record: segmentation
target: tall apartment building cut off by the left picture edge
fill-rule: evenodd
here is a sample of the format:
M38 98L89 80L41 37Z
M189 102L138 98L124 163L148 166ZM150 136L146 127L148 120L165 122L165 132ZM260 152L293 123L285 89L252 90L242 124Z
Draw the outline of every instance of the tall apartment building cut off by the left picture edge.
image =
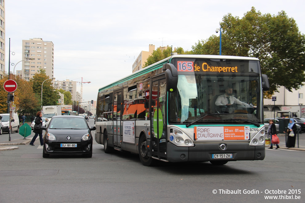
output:
M0 79L5 72L5 26L4 0L0 0Z

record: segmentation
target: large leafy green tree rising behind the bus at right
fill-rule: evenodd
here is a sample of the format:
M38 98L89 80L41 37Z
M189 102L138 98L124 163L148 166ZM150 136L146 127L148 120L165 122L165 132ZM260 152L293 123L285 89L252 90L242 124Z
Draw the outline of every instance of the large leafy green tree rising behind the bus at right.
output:
M222 27L222 55L260 59L262 74L267 74L273 94L279 86L291 91L305 82L305 37L293 18L284 11L278 15L261 14L252 7L239 19L225 15ZM193 54L217 54L219 37L213 35L192 46Z

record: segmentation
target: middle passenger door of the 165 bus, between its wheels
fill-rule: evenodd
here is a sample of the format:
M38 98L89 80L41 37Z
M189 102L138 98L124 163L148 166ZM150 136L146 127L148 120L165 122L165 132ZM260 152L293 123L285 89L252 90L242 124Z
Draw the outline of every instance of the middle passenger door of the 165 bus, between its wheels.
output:
M121 134L122 134L122 90L114 93L114 102L113 102L113 141L114 145L121 146Z

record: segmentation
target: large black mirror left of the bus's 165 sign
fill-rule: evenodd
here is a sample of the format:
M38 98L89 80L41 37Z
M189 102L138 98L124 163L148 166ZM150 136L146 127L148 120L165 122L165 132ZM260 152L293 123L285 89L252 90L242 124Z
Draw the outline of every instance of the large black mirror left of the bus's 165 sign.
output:
M163 65L163 70L165 70L167 91L169 92L175 91L177 89L177 83L178 83L177 68L171 63L166 63Z

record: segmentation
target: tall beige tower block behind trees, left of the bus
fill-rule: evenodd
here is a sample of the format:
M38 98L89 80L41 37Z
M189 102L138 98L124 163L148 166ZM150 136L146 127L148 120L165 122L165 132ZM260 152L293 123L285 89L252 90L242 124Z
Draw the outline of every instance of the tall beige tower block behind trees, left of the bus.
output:
M49 78L54 77L54 44L51 41L43 41L42 38L22 40L22 60L34 58L22 62L22 78L29 81L39 72L46 71Z

